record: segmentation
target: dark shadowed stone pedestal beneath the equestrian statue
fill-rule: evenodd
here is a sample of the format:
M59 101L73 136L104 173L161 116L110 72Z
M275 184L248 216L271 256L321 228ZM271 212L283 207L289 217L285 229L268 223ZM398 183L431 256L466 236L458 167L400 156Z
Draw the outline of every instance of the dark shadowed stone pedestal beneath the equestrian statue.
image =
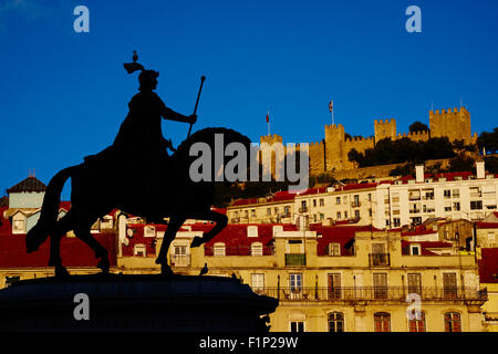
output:
M89 320L81 319L86 305ZM264 315L277 305L276 299L257 295L231 278L45 278L0 291L0 331L267 332Z

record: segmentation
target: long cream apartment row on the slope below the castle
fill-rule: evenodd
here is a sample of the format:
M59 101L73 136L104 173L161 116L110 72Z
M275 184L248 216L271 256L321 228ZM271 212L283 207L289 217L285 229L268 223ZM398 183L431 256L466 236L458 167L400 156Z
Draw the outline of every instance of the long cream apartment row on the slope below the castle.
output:
M483 220L497 210L498 200L498 175L487 174L484 164L476 163L476 174L425 174L424 166L418 165L415 176L394 180L338 184L295 195L281 192L287 198L286 210L293 215L287 219L270 217L274 208L271 198L235 201L228 214L230 221L239 222L295 222L305 216L310 223L373 225L378 229L419 225L434 218Z

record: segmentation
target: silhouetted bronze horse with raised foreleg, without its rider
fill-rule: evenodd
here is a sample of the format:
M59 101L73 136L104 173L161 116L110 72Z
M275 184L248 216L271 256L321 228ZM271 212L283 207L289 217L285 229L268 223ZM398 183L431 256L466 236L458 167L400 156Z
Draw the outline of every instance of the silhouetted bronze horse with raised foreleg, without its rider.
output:
M196 237L190 247L198 247L211 240L227 225L228 218L211 210L214 194L218 183L215 181L215 166L211 163L210 179L193 181L189 176L191 163L197 156L190 156L190 146L196 143L205 143L209 146L211 159L215 152L215 135L222 134L225 145L240 143L246 152L250 152L250 140L240 133L227 128L205 128L196 132L169 157L167 167L160 170L157 183L151 184L153 179L145 180L142 176L146 174L146 167L139 162L137 171L120 167L120 162L108 162L105 157L101 159L87 159L83 164L71 166L59 171L49 183L42 204L41 215L38 223L28 232L25 244L27 251L33 252L39 249L50 236L49 266L55 268L56 277L69 275L62 264L60 256L61 238L70 230L84 241L95 252L98 260L97 267L103 272L108 272L110 261L107 250L102 247L91 235L91 227L100 218L117 208L126 214L144 217L148 221L166 223L169 218L167 230L164 235L163 244L156 263L162 266L163 274L173 273L167 264L167 252L169 244L175 239L176 232L186 219L198 219L214 221L215 227L205 232L203 237ZM249 170L249 157L245 159L248 165L242 166ZM125 158L125 157L123 157ZM226 165L224 155L224 165ZM123 163L123 160L122 160ZM59 205L62 188L71 177L71 209L65 216L58 220ZM231 184L224 178L222 184ZM154 188L160 202L147 200L145 188Z

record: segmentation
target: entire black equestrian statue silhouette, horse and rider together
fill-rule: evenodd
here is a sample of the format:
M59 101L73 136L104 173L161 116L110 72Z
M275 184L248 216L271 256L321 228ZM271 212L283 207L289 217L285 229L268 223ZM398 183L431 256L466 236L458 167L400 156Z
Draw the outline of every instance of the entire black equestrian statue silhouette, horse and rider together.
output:
M240 143L249 152L249 138L232 129L211 127L191 136L189 131L187 139L174 149L172 142L163 137L160 119L189 123L191 128L197 121L195 112L205 77L201 77L194 114L185 116L166 107L154 92L159 73L145 70L136 60L134 52L133 62L125 63L124 67L129 74L141 71L139 93L128 103L129 113L114 144L96 155L85 157L84 163L55 174L46 186L40 219L27 235L28 252L37 251L50 236L49 266L55 268L56 277L69 275L62 264L60 247L61 238L71 230L95 252L97 267L108 272L107 250L93 238L91 227L115 208L156 223L166 223L165 218L169 218L156 259L163 274L173 273L167 264L167 252L186 219L216 223L203 237L196 237L190 247L209 241L227 225L225 215L211 210L216 186L219 184L215 183L215 166L210 164L210 178L193 181L189 169L198 157L190 156L190 146L203 143L209 146L210 152L215 152L215 137L221 134L225 145ZM174 154L169 156L166 148L174 150ZM246 160L249 162L249 158ZM249 169L248 166L243 168ZM58 219L61 192L70 177L71 209ZM221 183L230 184L226 180Z

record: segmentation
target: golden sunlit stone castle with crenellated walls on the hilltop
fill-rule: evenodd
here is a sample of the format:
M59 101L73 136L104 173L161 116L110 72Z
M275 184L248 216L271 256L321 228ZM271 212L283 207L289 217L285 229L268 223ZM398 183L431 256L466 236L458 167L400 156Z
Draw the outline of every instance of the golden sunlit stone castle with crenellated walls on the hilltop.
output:
M464 139L465 144L475 144L477 133L470 133L470 113L465 108L449 108L429 111L429 131L414 133L397 133L396 121L375 119L374 136L372 137L345 137L344 126L341 124L325 125L325 138L321 142L309 144L310 175L320 175L326 171L346 170L355 168L349 160L347 153L356 149L363 153L383 138L392 140L407 137L412 140L428 140L433 137L448 137L450 142ZM260 143L267 143L270 147L276 143L282 144L282 137L272 134L260 137ZM299 144L297 144L299 149Z

